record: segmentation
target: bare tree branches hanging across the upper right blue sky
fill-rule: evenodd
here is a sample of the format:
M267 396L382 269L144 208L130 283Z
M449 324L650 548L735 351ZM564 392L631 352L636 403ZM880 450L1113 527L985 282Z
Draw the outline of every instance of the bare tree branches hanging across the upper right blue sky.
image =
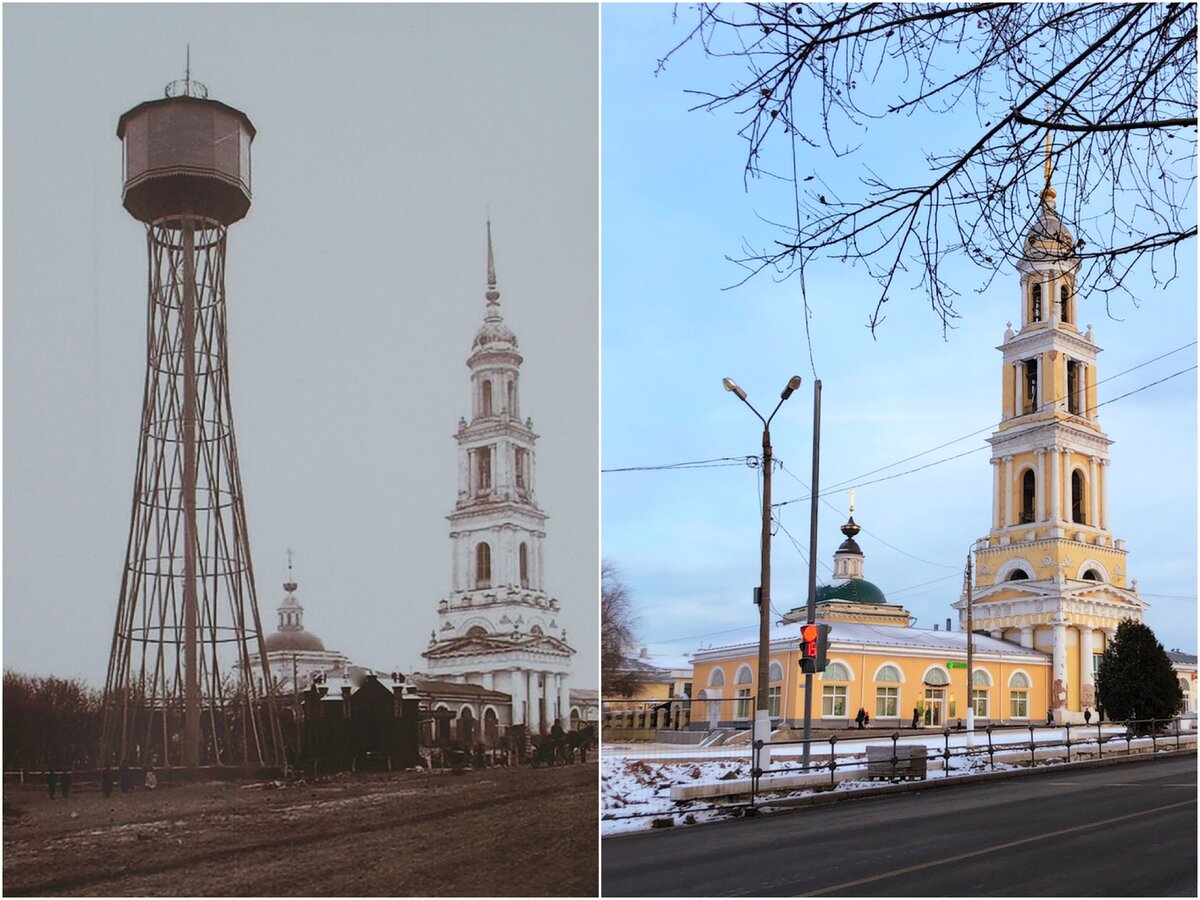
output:
M1019 256L1049 186L1048 133L1078 289L1108 302L1135 268L1157 286L1176 276L1177 248L1196 233L1194 4L695 8L660 70L695 41L743 62L727 90L692 91L696 108L731 109L748 144L744 176L778 176L794 193L796 220L775 223L778 241L734 260L746 278L798 275L803 292L815 259L860 262L880 286L872 334L905 287L925 294L944 332L960 313L942 264L971 259L982 289ZM904 184L864 166L852 197L818 174L868 145L872 121L916 113L974 118L977 139L923 146L928 172Z

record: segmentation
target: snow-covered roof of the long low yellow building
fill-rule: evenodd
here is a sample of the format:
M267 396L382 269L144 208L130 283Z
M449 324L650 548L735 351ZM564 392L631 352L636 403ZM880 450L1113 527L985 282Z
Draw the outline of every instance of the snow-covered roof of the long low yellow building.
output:
M847 648L847 644L862 646L864 648L892 648L913 650L935 650L938 653L962 653L967 652L966 631L935 631L924 628L900 628L898 625L872 625L865 622L830 622L829 644L830 650ZM776 649L796 647L800 640L798 624L776 625L770 632L770 643ZM998 641L988 635L974 635L974 652L995 656L1038 656L1050 659L1049 653L1036 650L1032 647L1021 647L1013 641ZM725 644L697 650L694 660L704 660L733 655L737 652L754 652L757 649L757 641L742 641L739 643Z

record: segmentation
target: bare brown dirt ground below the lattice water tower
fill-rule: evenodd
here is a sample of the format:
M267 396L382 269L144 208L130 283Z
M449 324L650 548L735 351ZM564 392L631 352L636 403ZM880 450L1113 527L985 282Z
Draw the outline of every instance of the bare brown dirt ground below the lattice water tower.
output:
M4 894L595 896L595 762L208 782L104 799L4 787Z

